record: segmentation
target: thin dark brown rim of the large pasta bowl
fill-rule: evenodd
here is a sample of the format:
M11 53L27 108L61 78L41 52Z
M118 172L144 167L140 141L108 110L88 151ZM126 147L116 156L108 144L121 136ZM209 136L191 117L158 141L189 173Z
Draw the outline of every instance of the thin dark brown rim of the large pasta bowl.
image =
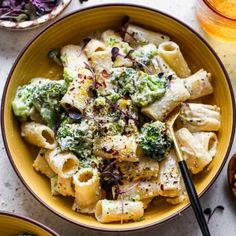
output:
M50 23L48 26L46 26L45 28L41 29L36 35L34 35L34 37L32 37L32 39L30 39L26 45L21 49L21 51L19 52L9 74L8 74L8 77L7 77L7 80L5 82L5 86L4 86L4 90L3 90L3 95L2 95L2 102L1 102L1 130L2 130L2 136L3 136L3 143L4 143L4 146L5 146L5 149L6 149L6 153L7 153L7 156L11 162L11 165L13 166L13 169L15 170L16 174L18 175L19 179L21 180L21 182L23 183L23 185L26 187L26 189L44 206L46 207L48 210L50 210L51 212L53 212L55 215L59 216L60 218L66 220L67 222L70 222L70 223L73 223L77 226L81 226L81 227L84 227L84 228L87 228L89 230L96 230L96 231L100 231L100 232L135 232L135 231L141 231L141 230L144 230L144 229L150 229L150 228L154 228L155 226L158 226L162 223L165 223L171 219L173 219L175 216L178 216L179 214L183 213L186 209L188 209L191 204L188 203L185 207L182 208L182 210L180 211L177 211L173 214L171 214L170 216L162 219L161 221L159 222L153 222L153 223L150 223L150 224L147 224L147 225L143 225L143 226L136 226L136 227L132 227L132 228L124 228L124 229L119 229L118 227L115 228L115 229L109 229L109 228L105 228L105 227L97 227L97 226L91 226L91 225L88 225L88 224L84 224L84 223L81 223L81 222L78 222L78 221L75 221L75 220L72 220L70 219L69 217L65 216L63 213L60 213L56 210L54 210L51 206L49 206L47 203L45 203L42 199L40 199L40 197L33 192L33 190L31 189L31 187L25 182L24 178L21 176L20 172L18 171L14 161L13 161L13 158L12 158L12 155L11 155L11 152L10 152L10 149L8 147L8 144L7 144L7 139L6 139L6 133L5 133L5 125L4 125L4 107L5 107L5 98L6 98L6 93L8 91L8 85L9 85L9 82L10 82L10 79L11 79L11 76L15 70L15 67L17 66L19 60L21 59L21 57L23 56L24 52L29 48L29 46L38 38L40 37L40 35L42 33L44 33L44 31L46 31L47 29L49 29L52 25L54 24L57 24L58 22L68 18L68 17L71 17L75 14L79 14L80 12L84 12L84 11L88 11L88 10L92 10L92 9L96 9L96 8L104 8L104 7L130 7L130 8L138 8L138 9L144 9L144 10L148 10L148 11L151 11L153 13L158 13L158 14L161 14L161 15L164 15L168 18L171 18L172 20L176 21L177 23L181 24L182 26L184 26L185 28L187 28L189 31L191 31L193 34L195 34L196 37L198 37L198 39L200 39L206 46L207 48L210 50L210 52L214 55L214 57L216 58L217 62L219 63L224 75L225 75L225 78L226 78L226 81L227 81L227 84L229 86L229 91L230 91L230 95L231 95L231 101L232 101L232 111L233 111L233 116L235 117L236 116L236 111L235 111L235 97L234 97L234 92L233 92L233 87L232 87L232 84L231 84L231 81L230 81L230 78L229 78L229 75L222 63L222 61L220 60L219 56L216 54L216 52L214 51L214 49L210 46L210 44L199 34L197 33L192 27L190 27L189 25L187 25L186 23L182 22L181 20L177 19L176 17L168 14L168 13L165 13L165 12L162 12L161 10L157 10L157 9L154 9L152 7L147 7L147 6L144 6L144 5L140 5L140 4L132 4L132 3L105 3L105 4L99 4L99 5L94 5L94 6L89 6L89 7L85 7L83 9L78 9L78 10L75 10L75 11L72 11L71 13L63 16L62 18L59 18L58 20ZM231 148L232 148L232 145L233 145L233 140L234 140L234 134L235 134L235 119L233 119L233 123L232 123L232 131L231 131L231 136L230 136L230 141L229 141L229 144L228 144L228 147L227 147L227 152L225 154L225 157L224 157L224 160L223 162L221 163L217 173L215 174L215 176L212 178L212 180L208 183L208 185L205 187L205 189L203 189L203 191L198 194L198 197L201 198L206 192L207 190L212 186L212 184L215 182L215 180L218 178L219 174L221 173L227 159L228 159L228 156L230 154L230 151L231 151Z

